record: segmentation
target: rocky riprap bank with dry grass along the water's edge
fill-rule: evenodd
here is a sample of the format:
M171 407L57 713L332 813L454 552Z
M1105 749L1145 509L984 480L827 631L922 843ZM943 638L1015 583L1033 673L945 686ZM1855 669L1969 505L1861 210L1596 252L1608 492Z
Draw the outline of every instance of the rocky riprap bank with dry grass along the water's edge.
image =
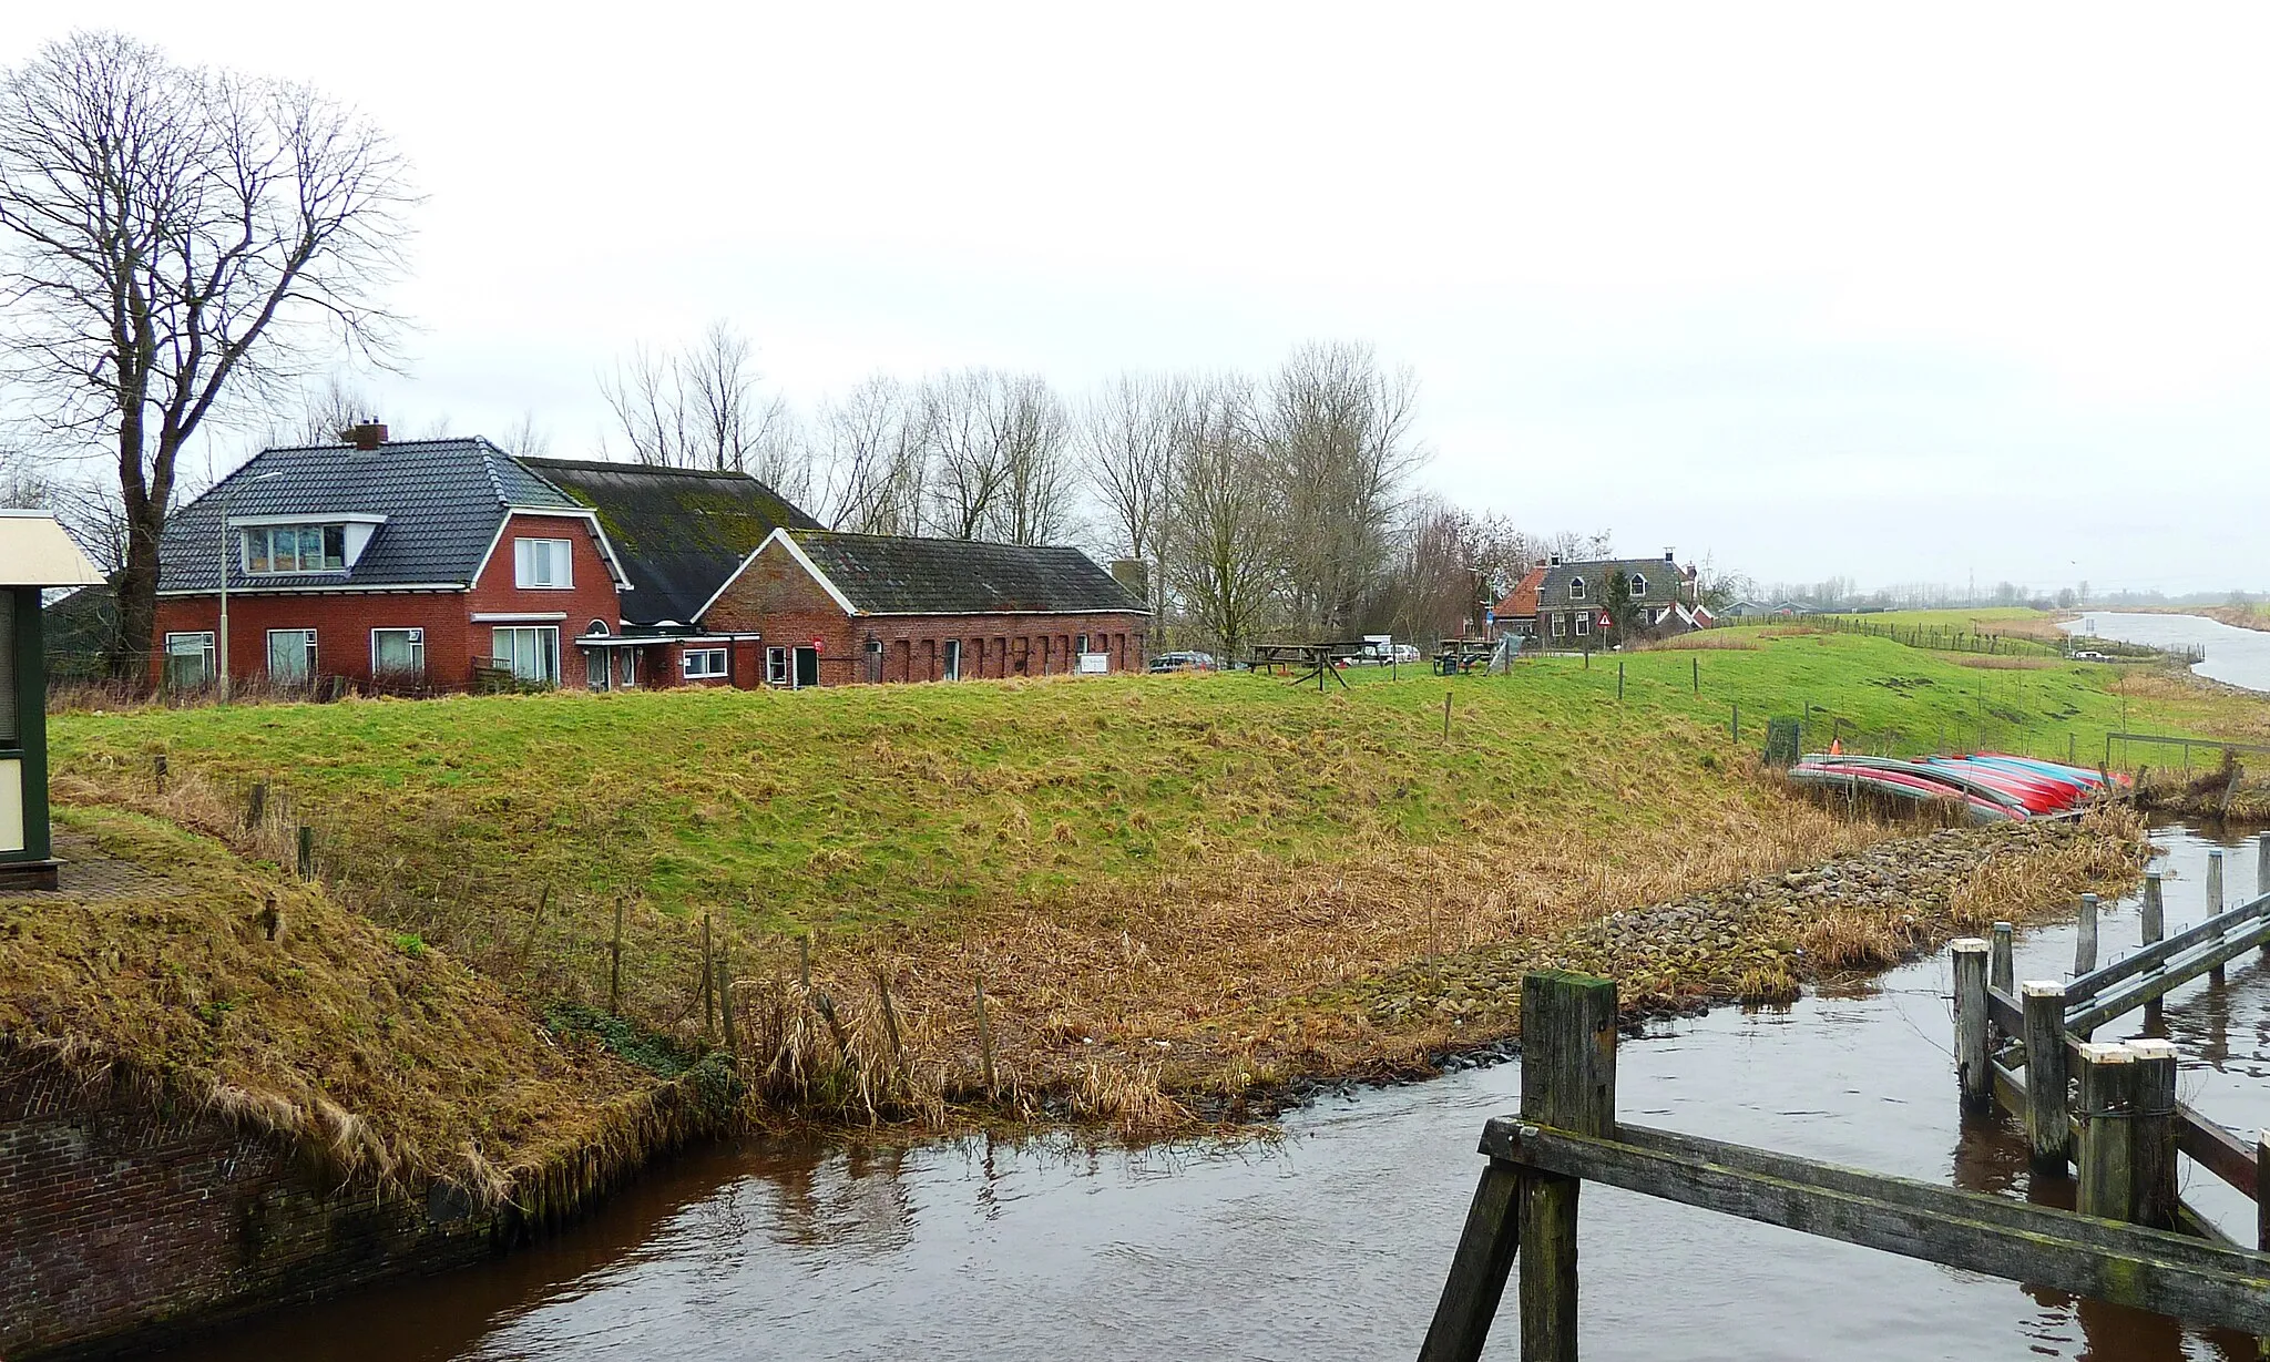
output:
M1800 983L1882 969L1995 919L2068 913L2082 890L2132 883L2147 851L2127 815L1895 838L1544 942L1410 965L1364 985L1362 1001L1382 1026L1435 1019L1471 1037L1444 1060L1494 1049L1519 1024L1521 976L1539 967L1616 978L1628 1019L1789 1001Z

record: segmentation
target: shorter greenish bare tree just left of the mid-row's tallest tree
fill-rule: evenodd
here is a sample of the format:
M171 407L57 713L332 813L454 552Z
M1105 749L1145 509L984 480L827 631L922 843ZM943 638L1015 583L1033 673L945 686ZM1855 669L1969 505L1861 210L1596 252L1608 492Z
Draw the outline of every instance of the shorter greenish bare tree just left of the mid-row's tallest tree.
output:
M1162 558L1174 602L1228 656L1278 613L1283 529L1251 386L1235 377L1194 386L1176 434Z

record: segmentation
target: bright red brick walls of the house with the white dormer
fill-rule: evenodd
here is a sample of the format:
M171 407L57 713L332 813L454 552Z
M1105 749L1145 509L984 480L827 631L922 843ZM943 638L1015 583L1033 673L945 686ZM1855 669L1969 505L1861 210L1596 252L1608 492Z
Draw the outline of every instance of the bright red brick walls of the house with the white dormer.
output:
M572 545L568 590L533 590L513 583L515 538L565 538ZM424 629L427 681L438 690L461 690L472 683L474 658L495 656L499 622L474 622L474 615L547 615L529 624L556 624L561 631L561 683L583 686L583 661L574 636L592 620L608 629L622 627L622 604L599 556L590 522L572 515L515 513L497 540L495 554L481 568L472 590L454 592L336 592L336 595L261 595L229 592L229 676L259 683L268 676L268 631L313 629L316 674L370 681L372 629ZM558 615L556 620L549 615ZM220 597L170 597L157 606L157 638L163 654L166 633L218 631ZM152 658L152 683L163 681L163 656Z

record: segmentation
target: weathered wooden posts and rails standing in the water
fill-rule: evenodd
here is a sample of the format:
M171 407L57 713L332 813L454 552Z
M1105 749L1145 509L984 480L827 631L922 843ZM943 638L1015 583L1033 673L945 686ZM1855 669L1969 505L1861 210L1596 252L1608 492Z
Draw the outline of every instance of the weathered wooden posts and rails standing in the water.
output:
M2245 908L2256 910L2245 922L2263 919L2259 903ZM2209 938L2195 938L2193 947L2161 956L2159 972L2141 965L2116 974L2109 983L2093 985L2082 1003L2084 1015L2120 999L2129 1008L2150 1001L2141 983L2113 992L2120 981L2152 978L2177 960L2184 969L2204 972L2200 960L2222 947L2229 953L2247 949L2240 942L2252 942L2256 933L2231 922L2236 913L2218 915L2218 949L2200 949ZM1961 1096L2025 1103L2013 1110L2036 1112L2038 1119L2027 1121L2036 1155L2063 1162L2077 1151L2082 1196L2093 1214L1621 1124L1616 985L1582 974L1537 972L1521 985L1521 1115L1491 1119L1482 1128L1480 1153L1487 1165L1419 1351L1421 1362L1471 1362L1482 1355L1516 1264L1523 1362L1573 1362L1582 1183L2156 1310L2202 1326L2270 1335L2270 1253L2150 1224L2186 1221L2175 1199L2177 1151L2256 1196L2261 1205L2261 1144L2247 1149L2236 1135L2175 1101L2175 1046L2068 1044L2068 1015L2075 1006L2070 990L2025 985L2023 1003L2009 997L2009 958L2004 953L1993 960L1998 944L2007 940L2009 933L1998 931L1995 944L1957 944ZM2027 1044L2029 1053L2045 1056L2048 1062L2018 1069L2002 1065L1993 1049L1995 1028L2002 1031L2002 1044ZM2082 1076L2079 1119L2068 1110L2068 1058ZM2038 1101L2029 1101L2032 1096ZM2204 1221L2188 1228L2204 1228ZM2263 1233L2270 1235L2270 1221ZM2259 1246L2270 1246L2270 1237L2259 1239Z

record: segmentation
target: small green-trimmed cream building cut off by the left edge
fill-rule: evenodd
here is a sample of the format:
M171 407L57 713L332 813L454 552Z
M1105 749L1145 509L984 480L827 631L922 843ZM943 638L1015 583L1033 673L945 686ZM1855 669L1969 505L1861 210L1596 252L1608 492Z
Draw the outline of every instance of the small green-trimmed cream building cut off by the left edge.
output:
M102 572L48 511L0 511L0 890L52 890L48 835L48 590L102 586Z

